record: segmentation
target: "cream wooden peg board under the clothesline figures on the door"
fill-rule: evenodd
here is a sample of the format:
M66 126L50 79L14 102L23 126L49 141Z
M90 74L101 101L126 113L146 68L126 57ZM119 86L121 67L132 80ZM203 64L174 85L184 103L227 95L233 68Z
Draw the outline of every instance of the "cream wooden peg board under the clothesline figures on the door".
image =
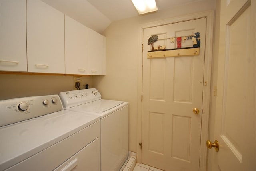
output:
M194 56L199 55L199 51L200 47L148 51L148 58Z

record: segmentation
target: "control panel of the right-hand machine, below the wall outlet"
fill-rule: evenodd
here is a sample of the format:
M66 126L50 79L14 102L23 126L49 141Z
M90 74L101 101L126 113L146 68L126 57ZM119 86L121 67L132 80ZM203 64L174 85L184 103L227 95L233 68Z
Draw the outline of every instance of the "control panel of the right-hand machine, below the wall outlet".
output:
M71 108L101 99L101 95L96 88L61 92L59 95L64 108Z

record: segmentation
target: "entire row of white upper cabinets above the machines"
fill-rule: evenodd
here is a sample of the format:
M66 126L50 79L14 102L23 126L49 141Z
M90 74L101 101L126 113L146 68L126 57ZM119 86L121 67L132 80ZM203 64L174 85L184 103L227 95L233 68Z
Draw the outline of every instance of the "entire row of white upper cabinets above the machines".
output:
M106 75L106 38L41 0L0 0L0 28L0 71Z

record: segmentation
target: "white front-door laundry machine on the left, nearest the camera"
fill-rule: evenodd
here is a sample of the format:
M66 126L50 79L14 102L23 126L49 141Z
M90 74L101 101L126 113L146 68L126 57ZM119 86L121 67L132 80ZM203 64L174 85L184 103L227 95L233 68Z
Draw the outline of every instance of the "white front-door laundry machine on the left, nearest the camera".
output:
M100 171L100 117L58 95L0 101L0 171Z

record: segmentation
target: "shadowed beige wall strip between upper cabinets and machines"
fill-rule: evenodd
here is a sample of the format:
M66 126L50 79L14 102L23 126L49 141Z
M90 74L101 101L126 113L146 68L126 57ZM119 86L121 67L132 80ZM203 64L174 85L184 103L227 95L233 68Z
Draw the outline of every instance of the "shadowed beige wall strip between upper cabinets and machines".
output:
M92 88L92 77L80 77L81 87L86 84ZM64 75L40 74L0 74L0 100L59 94L63 91L74 90L74 77Z

